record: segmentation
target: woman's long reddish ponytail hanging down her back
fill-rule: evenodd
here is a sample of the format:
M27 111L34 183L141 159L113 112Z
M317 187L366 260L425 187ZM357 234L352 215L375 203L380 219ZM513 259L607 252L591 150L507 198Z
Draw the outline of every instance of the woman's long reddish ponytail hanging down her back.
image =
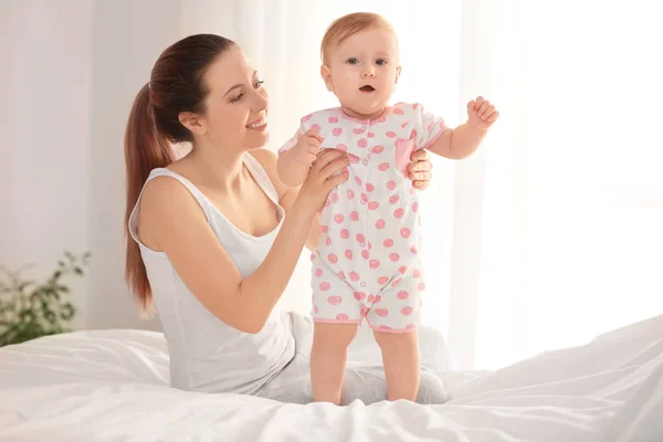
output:
M144 312L151 311L152 294L145 264L140 257L140 249L128 232L129 217L138 202L138 197L150 171L158 167L166 167L175 160L170 145L155 122L149 94L149 84L143 86L138 92L125 134L127 168L127 207L125 212L127 256L125 277Z

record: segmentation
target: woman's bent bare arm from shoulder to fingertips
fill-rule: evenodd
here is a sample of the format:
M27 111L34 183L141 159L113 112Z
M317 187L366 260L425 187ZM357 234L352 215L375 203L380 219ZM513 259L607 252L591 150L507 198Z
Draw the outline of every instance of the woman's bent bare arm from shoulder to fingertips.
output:
M348 162L340 151L318 157L267 256L245 278L198 202L179 182L162 177L146 186L140 206L140 217L146 217L143 225L150 227L159 249L206 308L231 327L257 333L292 276L315 213L334 186L347 179L333 175Z

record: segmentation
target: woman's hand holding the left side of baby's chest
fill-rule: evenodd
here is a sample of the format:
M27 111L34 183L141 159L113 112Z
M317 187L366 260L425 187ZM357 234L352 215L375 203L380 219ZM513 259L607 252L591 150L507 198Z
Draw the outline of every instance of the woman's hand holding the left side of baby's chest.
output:
M327 201L332 189L348 179L349 164L347 154L341 150L325 149L319 152L299 189L293 209L313 218Z

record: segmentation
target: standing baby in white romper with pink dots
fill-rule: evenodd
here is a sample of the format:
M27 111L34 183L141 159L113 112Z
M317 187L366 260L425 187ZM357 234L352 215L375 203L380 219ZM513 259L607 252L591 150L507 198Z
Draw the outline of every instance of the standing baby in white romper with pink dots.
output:
M347 348L366 319L382 351L388 399L413 401L425 283L419 202L407 166L414 149L470 156L498 113L478 97L467 104L467 122L452 129L420 104L389 106L401 67L397 36L380 15L336 20L320 52L320 74L340 106L302 118L278 150L278 173L288 186L302 185L322 149L344 150L350 160L349 179L320 211L312 255L314 400L340 403Z

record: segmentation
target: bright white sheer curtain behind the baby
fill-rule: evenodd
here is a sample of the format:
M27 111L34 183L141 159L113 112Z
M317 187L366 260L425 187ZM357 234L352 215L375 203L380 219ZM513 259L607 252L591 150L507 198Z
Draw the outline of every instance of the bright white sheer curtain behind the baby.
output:
M203 4L204 3L204 4ZM203 7L204 6L204 7ZM352 11L396 27L394 99L460 124L502 112L481 150L434 158L423 194L424 323L461 368L496 368L663 313L663 71L653 2L186 1L182 33L235 39L272 95L272 148L335 105L325 28ZM303 259L281 306L308 311Z

